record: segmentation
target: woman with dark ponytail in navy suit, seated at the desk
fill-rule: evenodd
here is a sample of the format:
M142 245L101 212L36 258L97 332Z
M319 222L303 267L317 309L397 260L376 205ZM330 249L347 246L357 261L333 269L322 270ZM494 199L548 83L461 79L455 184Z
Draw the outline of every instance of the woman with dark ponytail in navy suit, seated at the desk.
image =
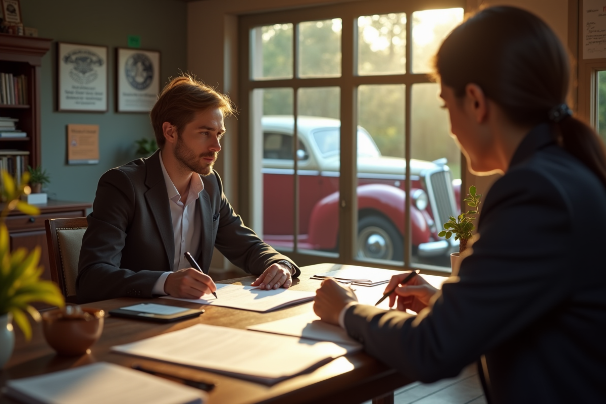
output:
M417 316L358 305L330 279L316 314L423 382L482 357L494 403L606 402L606 153L565 104L564 47L531 13L486 8L445 39L436 71L470 170L504 173L473 253L441 291L398 288Z

